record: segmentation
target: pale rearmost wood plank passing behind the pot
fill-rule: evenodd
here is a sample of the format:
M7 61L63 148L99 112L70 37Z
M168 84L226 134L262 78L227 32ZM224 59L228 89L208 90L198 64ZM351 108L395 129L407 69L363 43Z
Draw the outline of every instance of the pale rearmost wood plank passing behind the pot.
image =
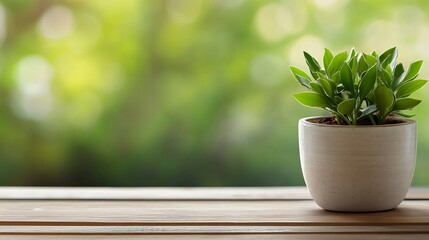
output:
M39 200L306 200L306 187L108 188L0 187L1 199ZM407 199L429 200L429 188L411 188Z

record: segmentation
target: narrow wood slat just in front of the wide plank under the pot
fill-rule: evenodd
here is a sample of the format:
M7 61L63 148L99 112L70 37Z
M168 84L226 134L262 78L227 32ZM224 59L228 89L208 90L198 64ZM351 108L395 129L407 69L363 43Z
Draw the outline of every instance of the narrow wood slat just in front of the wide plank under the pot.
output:
M332 234L332 233L426 233L428 225L399 226L0 226L0 235L40 234Z

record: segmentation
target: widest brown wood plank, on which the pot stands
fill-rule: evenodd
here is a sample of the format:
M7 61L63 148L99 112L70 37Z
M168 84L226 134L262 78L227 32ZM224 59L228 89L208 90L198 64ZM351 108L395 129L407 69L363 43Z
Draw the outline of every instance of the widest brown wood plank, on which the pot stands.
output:
M336 213L313 201L0 201L0 225L381 226L429 223L429 201Z

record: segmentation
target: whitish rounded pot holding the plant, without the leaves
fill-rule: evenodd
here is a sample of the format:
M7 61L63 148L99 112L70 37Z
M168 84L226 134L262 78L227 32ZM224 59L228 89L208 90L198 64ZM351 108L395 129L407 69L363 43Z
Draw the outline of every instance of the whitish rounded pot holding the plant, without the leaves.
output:
M397 207L413 178L416 122L377 126L299 121L305 183L317 205L344 212Z

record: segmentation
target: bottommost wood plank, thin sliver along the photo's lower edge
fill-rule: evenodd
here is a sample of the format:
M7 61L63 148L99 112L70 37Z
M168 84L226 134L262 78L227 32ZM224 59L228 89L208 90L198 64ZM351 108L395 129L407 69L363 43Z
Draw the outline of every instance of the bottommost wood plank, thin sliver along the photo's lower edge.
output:
M427 240L428 234L264 234L264 235L8 235L4 240Z

